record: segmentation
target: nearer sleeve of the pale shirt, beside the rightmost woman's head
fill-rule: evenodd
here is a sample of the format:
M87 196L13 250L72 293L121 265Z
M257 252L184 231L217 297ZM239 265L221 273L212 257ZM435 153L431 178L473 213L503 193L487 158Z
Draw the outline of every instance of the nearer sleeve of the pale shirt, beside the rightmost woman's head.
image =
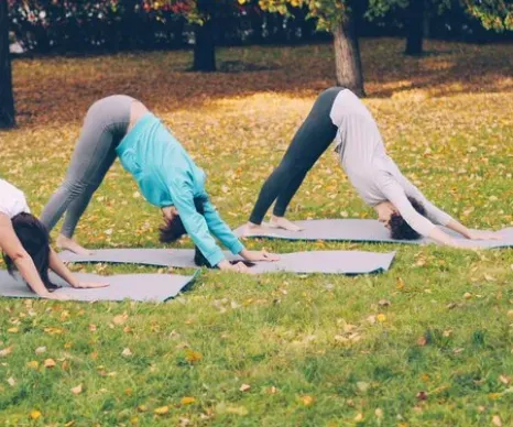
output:
M406 223L417 233L428 237L436 228L432 221L415 210L403 187L393 178L392 175L382 173L378 182L378 186L384 197L395 206Z

